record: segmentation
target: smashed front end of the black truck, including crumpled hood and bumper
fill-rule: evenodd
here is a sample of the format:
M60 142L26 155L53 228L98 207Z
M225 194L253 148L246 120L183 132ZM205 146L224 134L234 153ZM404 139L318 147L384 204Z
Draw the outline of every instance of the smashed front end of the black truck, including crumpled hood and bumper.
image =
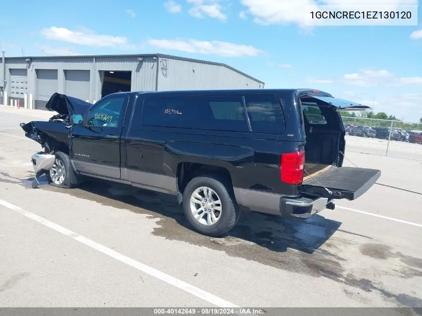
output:
M70 117L75 113L86 112L91 103L73 98L64 94L54 93L48 100L45 108L55 111L48 121L31 121L20 123L19 126L25 132L25 136L41 145L42 151L32 155L31 162L35 171L32 188L39 185L38 177L49 172L55 166L56 157L54 152L61 151L69 154L69 140L72 122ZM55 170L59 172L60 170Z

